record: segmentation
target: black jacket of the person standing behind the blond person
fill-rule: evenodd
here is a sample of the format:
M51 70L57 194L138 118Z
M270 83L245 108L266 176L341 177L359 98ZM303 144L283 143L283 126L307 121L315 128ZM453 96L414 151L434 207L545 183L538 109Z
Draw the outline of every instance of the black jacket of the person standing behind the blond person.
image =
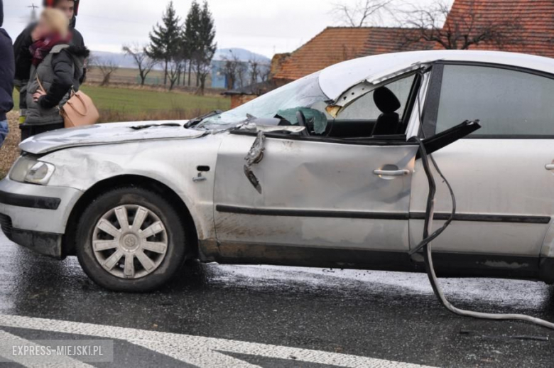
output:
M75 24L72 22L72 24ZM21 87L21 83L29 80L29 73L31 72L31 65L33 57L29 48L33 44L33 39L31 38L31 32L35 29L36 23L29 25L27 28L21 32L21 34L16 38L16 42L13 43L13 51L16 57L16 81L18 82L18 87ZM77 47L85 47L85 41L82 38L82 35L75 28L72 28L71 32L73 33L72 45ZM85 79L85 72L83 72L82 80ZM82 80L80 82L82 82Z

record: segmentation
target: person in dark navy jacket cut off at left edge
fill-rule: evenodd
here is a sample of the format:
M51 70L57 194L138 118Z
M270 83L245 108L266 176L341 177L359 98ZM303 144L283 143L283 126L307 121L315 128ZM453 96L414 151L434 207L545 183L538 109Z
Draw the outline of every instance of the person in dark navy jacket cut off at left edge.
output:
M4 4L0 0L0 147L9 132L6 112L13 109L13 73L16 68L13 62L11 38L4 28L1 28L2 24L4 24Z

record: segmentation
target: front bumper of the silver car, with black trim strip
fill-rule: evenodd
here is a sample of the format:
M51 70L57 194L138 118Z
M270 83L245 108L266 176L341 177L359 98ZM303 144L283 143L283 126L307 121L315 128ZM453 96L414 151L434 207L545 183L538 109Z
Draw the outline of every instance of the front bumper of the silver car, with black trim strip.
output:
M16 244L46 256L63 258L62 237L82 191L0 181L0 224Z

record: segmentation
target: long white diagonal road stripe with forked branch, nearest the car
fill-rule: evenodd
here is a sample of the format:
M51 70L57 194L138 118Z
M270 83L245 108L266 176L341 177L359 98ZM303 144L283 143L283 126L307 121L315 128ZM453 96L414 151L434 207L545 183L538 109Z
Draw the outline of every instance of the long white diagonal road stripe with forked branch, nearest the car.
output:
M121 328L107 325L94 325L92 323L22 317L18 315L0 315L0 326L126 340L135 345L140 345L161 354L179 359L180 361L205 368L256 367L256 365L228 357L219 352L233 352L245 355L257 355L260 357L288 359L295 362L328 364L337 367L423 367L418 364L393 362L384 359L359 357L356 355L333 352L298 349L295 347L225 340L215 337L180 335L170 332L137 330L134 328ZM114 354L116 353L117 352L114 352Z

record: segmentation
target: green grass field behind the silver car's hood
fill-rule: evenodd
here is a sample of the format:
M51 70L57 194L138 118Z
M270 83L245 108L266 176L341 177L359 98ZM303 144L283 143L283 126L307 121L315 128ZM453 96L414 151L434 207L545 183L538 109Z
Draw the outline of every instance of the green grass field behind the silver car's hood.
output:
M100 122L190 119L212 110L228 110L229 99L217 95L197 96L183 92L165 92L84 85L100 112ZM19 95L13 94L18 107Z

